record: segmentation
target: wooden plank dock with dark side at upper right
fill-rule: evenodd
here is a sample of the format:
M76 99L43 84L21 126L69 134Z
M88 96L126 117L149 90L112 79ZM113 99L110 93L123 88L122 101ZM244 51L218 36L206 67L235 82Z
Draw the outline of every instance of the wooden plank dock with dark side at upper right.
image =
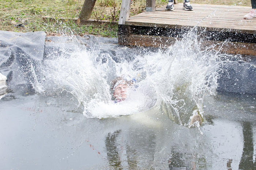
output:
M222 51L256 55L256 18L243 19L251 7L191 4L194 10L185 11L182 5L174 4L174 11L164 6L129 17L118 25L118 43L166 48L193 29L206 46L218 48L225 41Z

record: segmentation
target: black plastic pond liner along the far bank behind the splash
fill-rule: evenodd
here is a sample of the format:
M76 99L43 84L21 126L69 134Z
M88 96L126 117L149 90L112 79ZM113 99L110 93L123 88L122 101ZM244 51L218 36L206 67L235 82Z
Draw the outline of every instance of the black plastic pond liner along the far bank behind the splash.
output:
M117 45L116 38L100 38L93 35L78 36L78 41L88 49L101 47L100 53L109 54L114 61L132 61L140 48L128 48ZM31 74L33 67L40 81L40 65L46 57L62 54L63 42L70 41L69 36L46 37L45 32L9 32L0 31L0 72L7 77L9 90L27 89L33 91ZM72 51L72 46L64 44L64 48ZM113 50L115 49L115 50ZM119 50L116 50L119 49ZM148 49L154 50L154 49ZM117 54L117 53L122 54ZM243 56L244 61L224 62L219 73L218 91L232 93L256 93L256 57ZM104 59L102 59L104 62Z

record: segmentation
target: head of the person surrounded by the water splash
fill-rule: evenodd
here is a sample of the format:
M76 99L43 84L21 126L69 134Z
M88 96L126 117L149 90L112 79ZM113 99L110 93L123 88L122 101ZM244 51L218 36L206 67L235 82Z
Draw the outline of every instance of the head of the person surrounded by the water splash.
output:
M129 74L123 74L111 82L110 90L113 94L114 103L124 101L127 98L127 90L135 83L135 78Z

